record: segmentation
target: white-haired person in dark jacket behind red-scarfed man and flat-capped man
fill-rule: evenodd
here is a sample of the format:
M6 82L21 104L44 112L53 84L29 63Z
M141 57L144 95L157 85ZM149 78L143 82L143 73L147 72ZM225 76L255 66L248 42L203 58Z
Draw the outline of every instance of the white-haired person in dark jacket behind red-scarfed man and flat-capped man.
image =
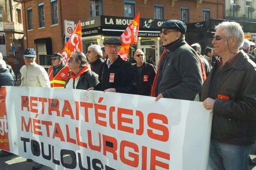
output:
M90 61L91 70L99 74L99 67L102 65L104 60L102 59L102 50L99 45L90 45L86 53L87 58Z

